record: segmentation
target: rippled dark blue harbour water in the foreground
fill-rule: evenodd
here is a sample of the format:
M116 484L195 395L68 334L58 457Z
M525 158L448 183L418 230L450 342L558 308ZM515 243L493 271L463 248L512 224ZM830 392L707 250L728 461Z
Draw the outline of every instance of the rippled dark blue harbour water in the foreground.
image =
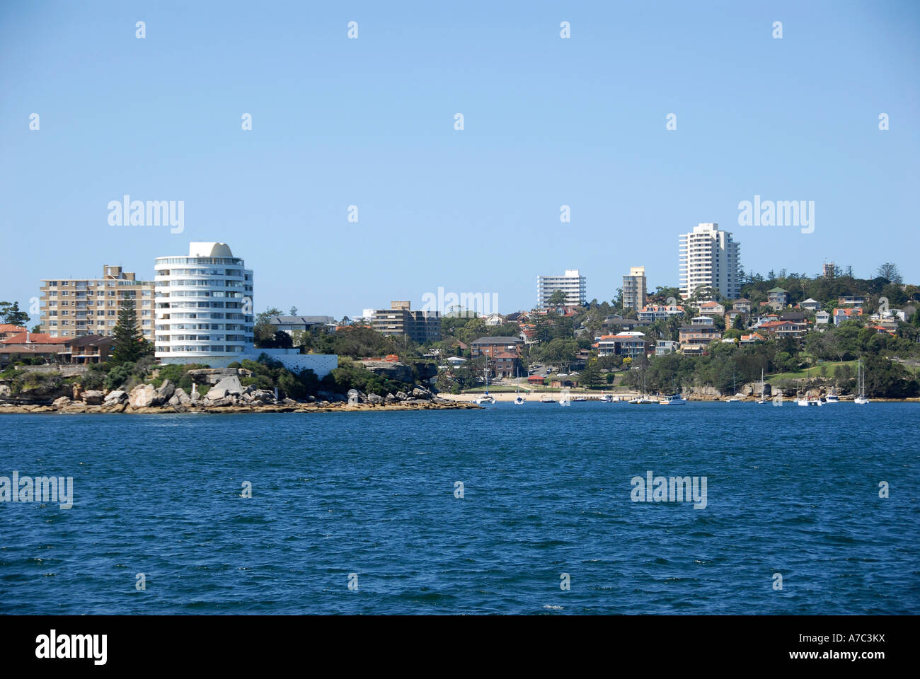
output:
M75 499L0 503L0 613L917 614L918 416L4 415L0 476ZM707 507L631 501L648 470L707 477Z

